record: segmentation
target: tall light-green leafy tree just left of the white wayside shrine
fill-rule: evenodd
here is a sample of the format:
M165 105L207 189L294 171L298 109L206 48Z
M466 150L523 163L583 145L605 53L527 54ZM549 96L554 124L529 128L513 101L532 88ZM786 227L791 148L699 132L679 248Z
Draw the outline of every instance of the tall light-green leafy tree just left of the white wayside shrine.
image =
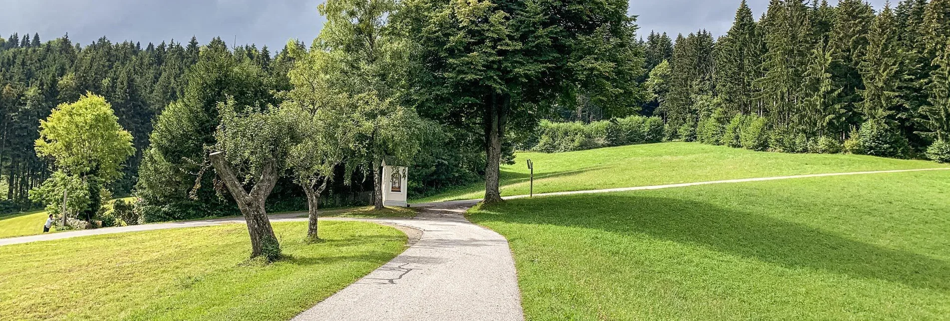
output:
M317 7L327 24L314 40L313 53L327 66L321 71L330 93L350 102L361 130L357 160L370 169L373 204L383 208L381 163L386 157L409 162L418 151L421 130L415 110L402 103L409 66L409 44L390 31L393 0L331 0ZM306 66L304 66L306 68ZM297 87L295 90L312 90Z

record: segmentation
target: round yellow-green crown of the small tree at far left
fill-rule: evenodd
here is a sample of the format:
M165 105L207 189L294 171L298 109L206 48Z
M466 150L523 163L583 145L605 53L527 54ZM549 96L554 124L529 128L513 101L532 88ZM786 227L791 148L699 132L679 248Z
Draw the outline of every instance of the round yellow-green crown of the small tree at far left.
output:
M102 96L87 94L60 104L40 121L36 154L51 157L72 175L94 175L108 182L119 178L123 162L135 153L125 131Z

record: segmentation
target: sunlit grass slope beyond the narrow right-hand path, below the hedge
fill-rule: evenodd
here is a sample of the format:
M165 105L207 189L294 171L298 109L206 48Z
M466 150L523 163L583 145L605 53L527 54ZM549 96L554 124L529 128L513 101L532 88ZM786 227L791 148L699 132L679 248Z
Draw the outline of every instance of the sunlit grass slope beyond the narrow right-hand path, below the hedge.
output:
M569 153L518 153L502 166L502 195L528 194L528 168L535 164L535 193L582 191L682 182L760 177L946 167L924 160L893 160L862 155L753 152L698 142L661 142ZM485 196L476 183L412 202Z

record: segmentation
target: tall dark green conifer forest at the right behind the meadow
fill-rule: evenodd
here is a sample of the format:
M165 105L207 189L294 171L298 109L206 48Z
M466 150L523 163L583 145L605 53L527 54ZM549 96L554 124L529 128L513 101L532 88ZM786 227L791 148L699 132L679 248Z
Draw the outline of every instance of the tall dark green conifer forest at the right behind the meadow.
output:
M772 0L758 20L743 1L718 39L642 41L643 112L667 122L667 140L739 146L731 134L755 123L752 149L916 157L950 130L948 41L948 0Z

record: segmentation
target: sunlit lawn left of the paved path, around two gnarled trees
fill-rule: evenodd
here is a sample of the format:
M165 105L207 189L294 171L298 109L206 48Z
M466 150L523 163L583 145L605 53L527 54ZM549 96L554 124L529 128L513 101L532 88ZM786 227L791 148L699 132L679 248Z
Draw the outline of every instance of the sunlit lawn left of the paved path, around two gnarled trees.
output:
M288 257L248 262L244 224L0 247L0 319L289 320L403 252L378 224L276 222Z

